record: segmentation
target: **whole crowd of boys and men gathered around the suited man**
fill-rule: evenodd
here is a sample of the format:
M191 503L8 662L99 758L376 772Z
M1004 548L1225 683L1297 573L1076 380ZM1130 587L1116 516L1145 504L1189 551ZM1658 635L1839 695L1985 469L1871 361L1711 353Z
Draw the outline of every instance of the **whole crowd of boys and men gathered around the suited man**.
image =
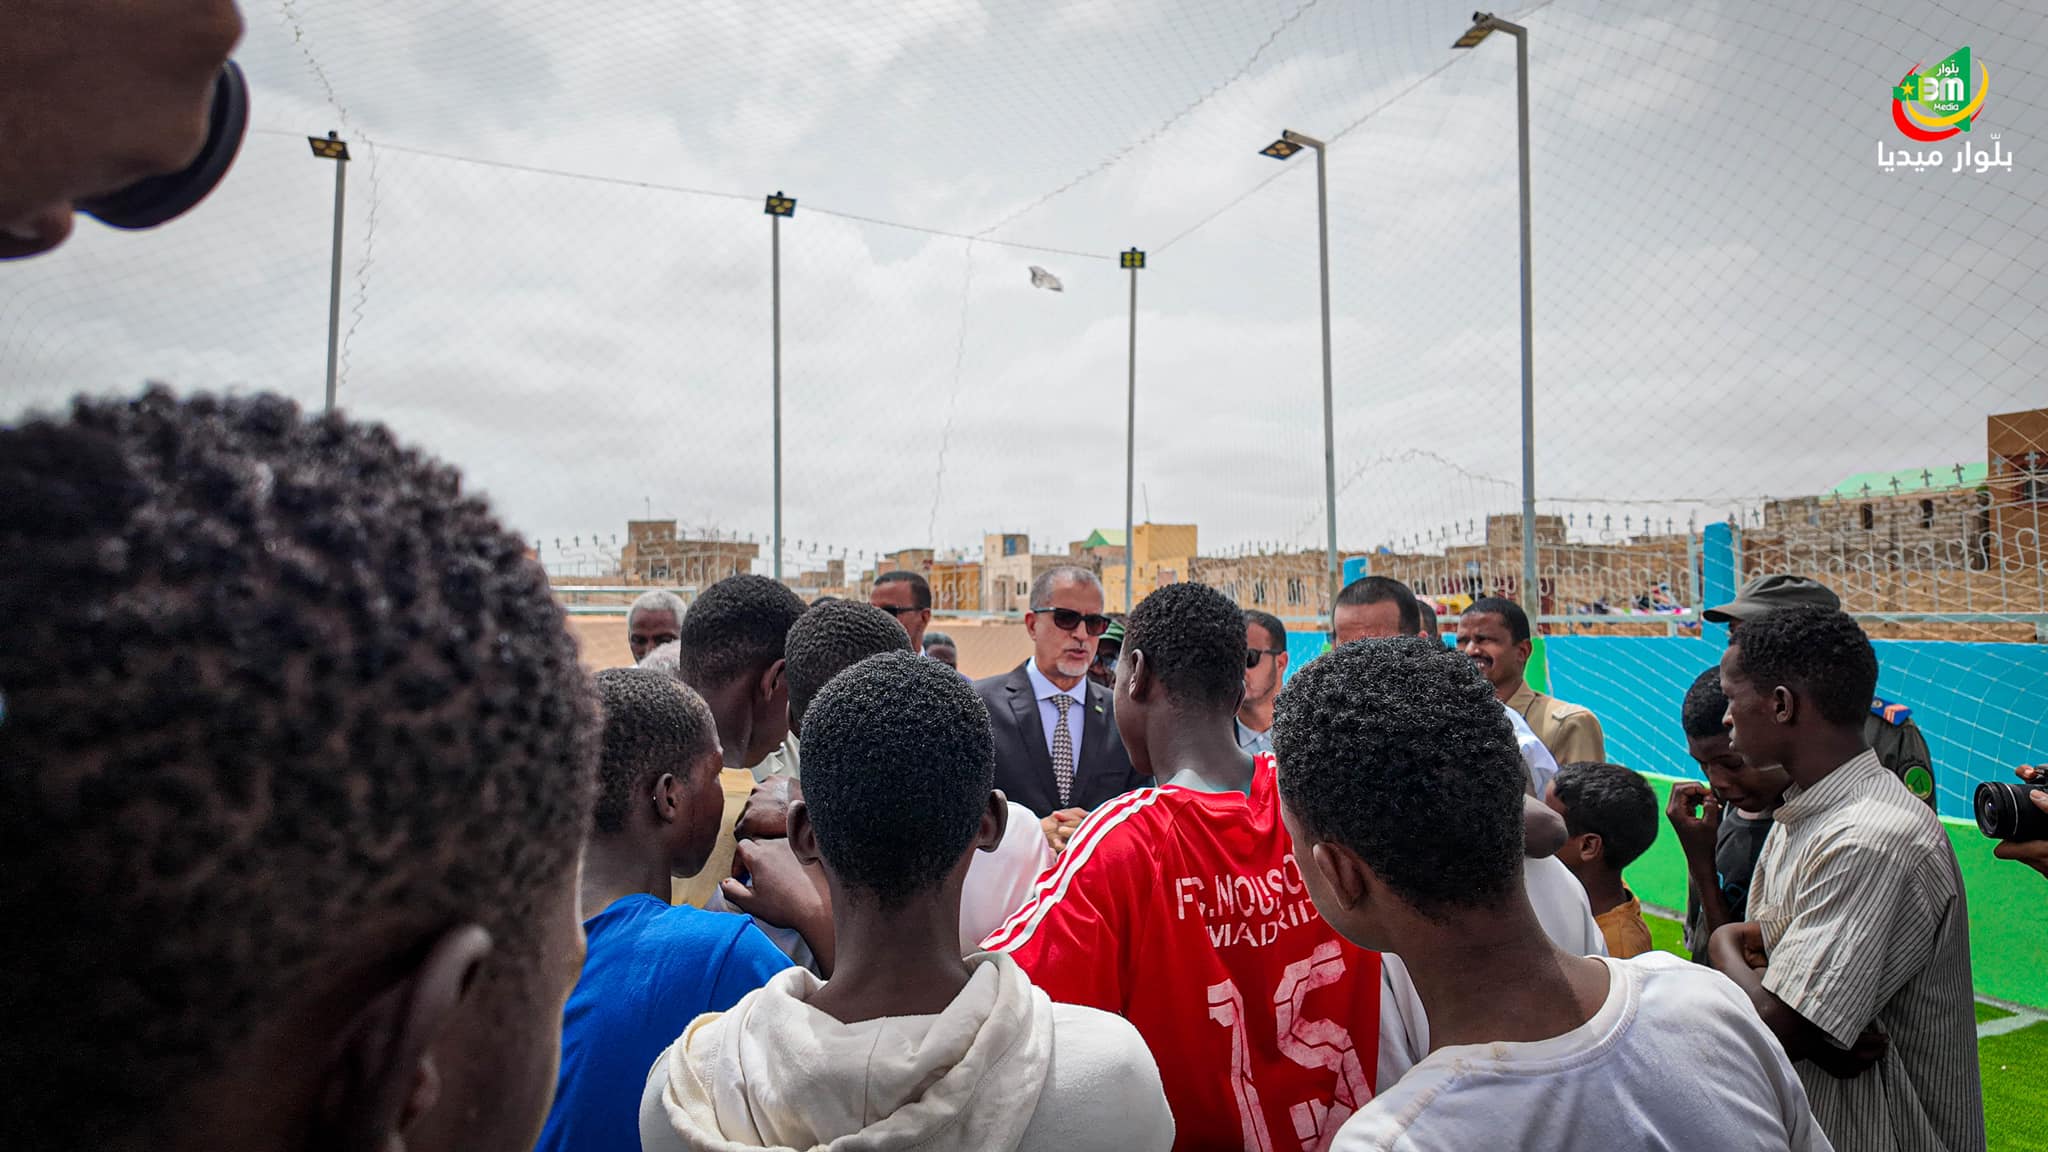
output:
M1452 650L1360 582L1276 687L1169 584L1104 697L1087 572L979 685L735 576L590 676L453 469L162 389L0 430L0 547L8 1146L1985 1146L1962 879L1833 607L1673 701L1688 963L1653 791L1556 767L1485 601Z

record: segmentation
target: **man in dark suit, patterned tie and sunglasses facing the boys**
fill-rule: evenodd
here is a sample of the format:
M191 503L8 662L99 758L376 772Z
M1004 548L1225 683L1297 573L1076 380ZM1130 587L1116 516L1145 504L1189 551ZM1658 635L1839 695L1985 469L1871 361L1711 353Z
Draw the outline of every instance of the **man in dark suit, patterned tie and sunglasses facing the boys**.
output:
M1151 783L1116 734L1116 693L1087 678L1108 627L1096 574L1053 568L1024 613L1032 658L975 683L995 728L995 787L1038 814L1055 849L1090 808Z

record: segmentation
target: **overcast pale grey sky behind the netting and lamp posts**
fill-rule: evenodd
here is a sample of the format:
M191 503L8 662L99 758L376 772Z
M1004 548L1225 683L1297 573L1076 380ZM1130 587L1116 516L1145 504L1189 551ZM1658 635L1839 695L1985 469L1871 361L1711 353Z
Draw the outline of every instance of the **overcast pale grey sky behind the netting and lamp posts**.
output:
M1982 459L1985 414L2048 404L2048 14L1782 8L1524 16L1546 510L1718 517ZM342 404L459 461L551 560L649 510L766 537L776 189L801 201L793 551L1120 527L1133 244L1139 517L1194 521L1208 551L1317 547L1313 156L1257 156L1292 127L1331 137L1341 543L1518 506L1513 43L1454 53L1468 0L246 16L256 133L221 191L160 234L84 223L0 266L8 414L143 379L317 408L332 166L303 135L336 127ZM1997 133L2011 168L1882 170L1911 143L1890 86L1962 45L1989 96L1939 148Z

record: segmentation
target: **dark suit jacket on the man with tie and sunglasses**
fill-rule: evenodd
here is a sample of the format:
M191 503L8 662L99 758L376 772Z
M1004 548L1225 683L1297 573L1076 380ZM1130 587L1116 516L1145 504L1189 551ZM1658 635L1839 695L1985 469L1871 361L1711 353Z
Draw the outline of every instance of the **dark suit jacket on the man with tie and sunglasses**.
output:
M1098 804L1151 783L1130 767L1124 740L1116 734L1116 695L1094 681L1081 699L1081 746L1073 765L1071 808ZM989 726L995 730L995 787L1004 795L1047 818L1059 808L1059 783L1053 779L1053 750L1044 746L1044 719L1032 693L1024 664L1001 676L975 681L975 693L989 705Z

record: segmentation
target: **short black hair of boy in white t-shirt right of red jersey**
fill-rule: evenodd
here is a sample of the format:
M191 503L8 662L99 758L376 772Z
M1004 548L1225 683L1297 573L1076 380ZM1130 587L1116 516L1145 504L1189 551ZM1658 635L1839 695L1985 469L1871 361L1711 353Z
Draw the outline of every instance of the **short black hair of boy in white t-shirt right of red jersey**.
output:
M1274 752L1288 808L1415 912L1520 892L1528 769L1468 658L1419 635L1333 648L1280 689Z

